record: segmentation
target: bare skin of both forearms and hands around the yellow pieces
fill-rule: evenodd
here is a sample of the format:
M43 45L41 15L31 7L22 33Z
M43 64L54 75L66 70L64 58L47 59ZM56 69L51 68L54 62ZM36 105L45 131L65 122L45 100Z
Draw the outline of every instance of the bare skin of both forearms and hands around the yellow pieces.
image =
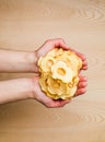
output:
M36 99L46 107L62 107L71 100L54 100L46 96L39 86L39 72L37 61L39 57L45 56L54 48L63 48L66 50L73 50L66 43L58 39L49 39L35 51L14 51L0 50L0 72L28 72L37 73L31 79L15 79L0 82L0 104L22 100ZM88 61L84 55L73 50L82 59L82 69L88 69ZM80 74L78 90L74 96L82 95L86 92L88 80Z

